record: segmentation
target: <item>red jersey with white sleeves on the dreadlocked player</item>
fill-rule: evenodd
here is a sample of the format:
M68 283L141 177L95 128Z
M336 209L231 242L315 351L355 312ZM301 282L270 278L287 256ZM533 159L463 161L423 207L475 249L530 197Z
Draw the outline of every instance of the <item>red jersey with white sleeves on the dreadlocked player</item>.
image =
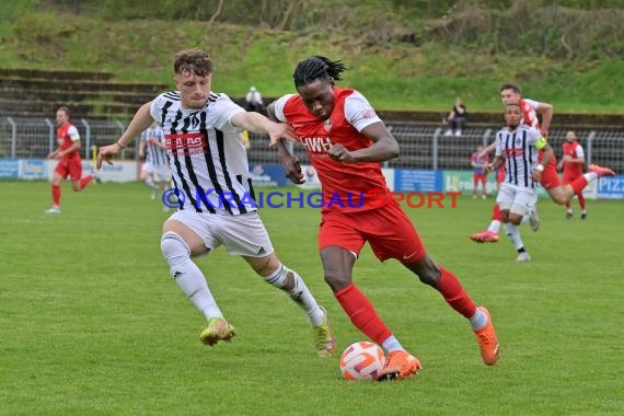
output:
M334 88L334 111L326 120L310 113L299 94L276 101L275 113L279 120L293 128L308 149L323 188L323 211L355 212L374 208L369 203L379 207L380 194L372 199L367 194L373 189L388 194L381 165L340 163L330 159L327 152L337 143L349 151L371 147L373 142L360 131L381 119L363 95L353 89Z

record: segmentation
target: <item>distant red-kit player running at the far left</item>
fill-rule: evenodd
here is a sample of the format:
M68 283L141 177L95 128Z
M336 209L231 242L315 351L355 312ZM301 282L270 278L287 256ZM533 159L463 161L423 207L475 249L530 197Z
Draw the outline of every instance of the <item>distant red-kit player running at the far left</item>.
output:
M82 159L80 159L80 135L78 129L69 123L69 109L59 107L56 111L58 149L48 154L48 159L58 160L53 177L53 207L46 213L60 213L60 181L71 180L71 188L80 192L89 185L92 175L82 177Z

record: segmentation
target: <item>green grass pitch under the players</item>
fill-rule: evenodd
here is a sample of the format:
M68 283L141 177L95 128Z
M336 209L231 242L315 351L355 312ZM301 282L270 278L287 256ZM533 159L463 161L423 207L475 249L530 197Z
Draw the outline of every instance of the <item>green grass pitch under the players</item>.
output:
M347 383L338 358L366 339L323 281L317 209L262 217L280 259L331 314L337 354L320 359L303 313L223 249L197 261L239 335L199 343L203 317L160 254L167 217L140 184L0 182L0 414L416 415L623 414L624 203L588 201L589 218L540 204L542 228L511 244L467 235L492 199L406 209L428 252L489 308L499 363L481 362L465 320L396 262L368 246L355 281L423 370L400 383Z

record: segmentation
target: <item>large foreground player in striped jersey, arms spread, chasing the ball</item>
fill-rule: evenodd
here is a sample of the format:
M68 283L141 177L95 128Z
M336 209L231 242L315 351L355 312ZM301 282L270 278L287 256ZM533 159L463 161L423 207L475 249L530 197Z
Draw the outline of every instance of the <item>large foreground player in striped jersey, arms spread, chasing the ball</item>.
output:
M161 250L171 275L208 321L201 342L215 345L235 334L201 270L190 259L222 244L228 254L242 256L265 281L290 294L310 320L316 354L330 356L334 338L326 312L316 304L301 277L279 262L255 204L249 198L253 188L236 128L268 134L271 143L297 138L287 125L247 113L227 95L212 93L212 61L208 54L183 50L176 54L173 66L178 91L143 104L119 140L100 149L97 167L103 160L111 163L112 157L154 119L159 122L173 184L183 193L178 210L163 224Z

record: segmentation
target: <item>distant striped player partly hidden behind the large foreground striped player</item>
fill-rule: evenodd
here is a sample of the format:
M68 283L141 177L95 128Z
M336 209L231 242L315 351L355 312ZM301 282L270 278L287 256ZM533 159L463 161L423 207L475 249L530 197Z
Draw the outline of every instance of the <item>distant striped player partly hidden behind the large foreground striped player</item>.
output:
M146 161L139 178L152 189L152 199L155 199L159 185L164 190L171 182L164 135L157 122L141 132L140 140L139 158L146 158ZM169 207L164 206L164 210L169 210Z

